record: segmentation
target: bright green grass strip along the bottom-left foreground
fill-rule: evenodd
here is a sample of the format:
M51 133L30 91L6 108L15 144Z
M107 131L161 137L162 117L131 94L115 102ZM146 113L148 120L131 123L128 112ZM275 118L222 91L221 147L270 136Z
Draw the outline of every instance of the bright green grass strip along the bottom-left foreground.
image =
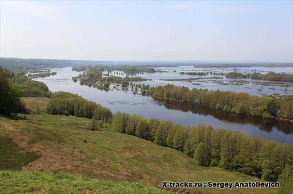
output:
M120 183L74 176L54 171L50 173L0 171L2 194L175 194L137 183Z

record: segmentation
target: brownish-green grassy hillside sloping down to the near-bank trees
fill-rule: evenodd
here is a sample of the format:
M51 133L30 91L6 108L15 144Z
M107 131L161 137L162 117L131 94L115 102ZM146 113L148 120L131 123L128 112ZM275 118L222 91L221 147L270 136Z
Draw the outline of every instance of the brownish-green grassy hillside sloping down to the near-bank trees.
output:
M6 161L12 157L13 159L9 161L18 161L16 163L6 162L5 166L2 164L4 162L0 161L0 169L44 172L59 170L90 178L138 182L158 188L161 187L164 180L176 182L260 181L254 177L216 167L199 166L193 159L180 151L162 147L134 136L117 133L110 127L99 131L88 130L86 126L89 122L88 119L71 116L27 115L27 120L18 121L0 117L0 137L5 140L0 141L1 150L4 150L0 154L6 153L1 158ZM14 154L9 156L9 153ZM29 156L29 159L24 156ZM6 173L11 174L12 177L20 176L20 178L48 176L51 177L52 181L55 181L53 180L54 174L23 173L18 175L12 172ZM70 177L74 181L82 180L81 177ZM56 181L54 184L63 184ZM91 181L93 184L96 180ZM70 185L70 182L65 181L64 185L66 184ZM76 182L76 184L79 183ZM5 188L8 192L13 193L12 188ZM187 189L174 191L187 191ZM194 188L190 189L189 192L273 194L277 190L272 188L233 188L231 190Z

